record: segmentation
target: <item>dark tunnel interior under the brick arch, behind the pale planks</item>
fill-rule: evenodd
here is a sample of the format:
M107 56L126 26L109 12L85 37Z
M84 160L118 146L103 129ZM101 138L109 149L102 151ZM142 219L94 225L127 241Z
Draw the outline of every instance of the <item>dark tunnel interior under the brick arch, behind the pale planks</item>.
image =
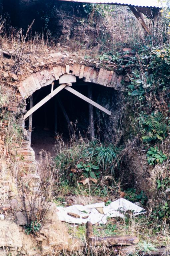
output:
M55 81L54 89L58 85L58 81ZM116 107L116 93L113 88L86 83L82 79L77 79L77 82L72 84L73 89L87 97L88 86L92 87L93 100L95 102L111 111L114 110ZM49 93L51 93L51 85L35 91L33 93L33 105L37 104ZM27 99L26 110L30 108L29 101L30 98ZM45 150L47 153L49 152L52 157L55 156L55 137L57 134L62 136L65 143L69 143L70 137L72 136L68 121L59 101L62 102L70 121L73 123L73 129L76 131L76 135L79 136L81 134L83 138L90 139L88 103L66 89L63 89L33 113L31 146L36 153L37 159L41 150ZM108 130L106 123L109 123L110 117L96 107L93 107L93 110L95 136L98 134L98 125L100 125L99 138L102 140L104 138L102 134L105 134L106 130ZM25 125L26 129L28 129L29 118L26 120Z

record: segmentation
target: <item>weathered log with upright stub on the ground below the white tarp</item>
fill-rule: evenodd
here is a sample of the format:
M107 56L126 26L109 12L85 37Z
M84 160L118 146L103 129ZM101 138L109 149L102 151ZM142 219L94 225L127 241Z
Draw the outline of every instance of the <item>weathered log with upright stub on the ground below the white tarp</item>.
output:
M139 239L132 236L108 236L98 237L93 235L92 224L90 221L86 223L86 239L90 246L102 245L133 245L138 244Z

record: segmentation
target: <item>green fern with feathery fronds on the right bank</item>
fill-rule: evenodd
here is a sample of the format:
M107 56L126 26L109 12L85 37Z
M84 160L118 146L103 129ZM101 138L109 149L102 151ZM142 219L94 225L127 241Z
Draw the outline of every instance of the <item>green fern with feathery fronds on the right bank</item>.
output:
M148 115L143 121L145 135L142 136L144 142L163 140L167 136L169 126L166 124L164 115L160 112Z

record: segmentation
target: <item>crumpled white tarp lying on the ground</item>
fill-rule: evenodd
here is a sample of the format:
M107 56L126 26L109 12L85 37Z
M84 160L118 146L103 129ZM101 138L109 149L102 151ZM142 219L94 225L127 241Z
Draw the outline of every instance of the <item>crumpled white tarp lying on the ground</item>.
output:
M97 208L99 208L97 210ZM100 212L102 211L103 214ZM146 212L142 207L135 205L124 198L120 198L108 206L102 203L96 203L91 205L72 205L69 207L57 207L57 214L61 221L74 224L83 224L90 221L92 224L107 222L107 217L121 217L124 218L126 211L132 211L133 215L144 214ZM76 217L72 217L72 214L76 214ZM72 215L72 216L71 216Z

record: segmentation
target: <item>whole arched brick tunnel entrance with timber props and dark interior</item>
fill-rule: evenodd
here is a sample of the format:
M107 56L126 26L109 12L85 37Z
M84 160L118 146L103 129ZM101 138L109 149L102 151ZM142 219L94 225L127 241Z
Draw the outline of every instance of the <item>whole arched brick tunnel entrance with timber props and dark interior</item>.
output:
M72 124L77 121L81 134L93 140L93 107L109 116L111 111L92 97L97 98L96 95L102 93L99 87L106 90L107 87L113 87L118 78L113 71L76 64L73 67L57 66L51 70L38 71L21 82L19 91L27 100L25 125L35 152L38 154L39 150L44 149L54 155L57 133L68 140L69 135L75 133Z

